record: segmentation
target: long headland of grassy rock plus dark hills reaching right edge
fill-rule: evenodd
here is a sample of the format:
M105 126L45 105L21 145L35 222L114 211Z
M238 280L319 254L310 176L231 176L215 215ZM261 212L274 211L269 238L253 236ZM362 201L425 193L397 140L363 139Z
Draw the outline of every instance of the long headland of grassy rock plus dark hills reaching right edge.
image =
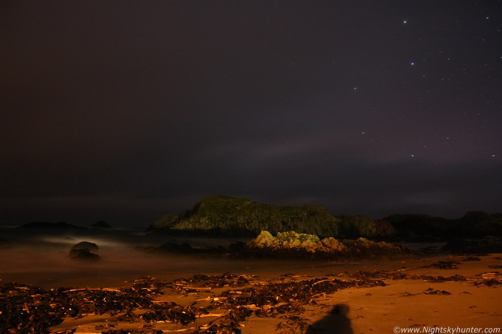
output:
M318 206L277 206L216 195L199 199L190 211L164 215L147 230L220 237L255 237L261 231L296 231L339 239L502 236L502 214L470 211L458 219L395 214L375 220L364 215L333 216Z

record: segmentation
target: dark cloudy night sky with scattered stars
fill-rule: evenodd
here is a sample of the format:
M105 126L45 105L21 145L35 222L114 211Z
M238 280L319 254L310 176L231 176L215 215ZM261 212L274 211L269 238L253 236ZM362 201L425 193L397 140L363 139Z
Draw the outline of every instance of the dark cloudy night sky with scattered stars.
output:
M500 1L0 2L0 224L215 194L502 211Z

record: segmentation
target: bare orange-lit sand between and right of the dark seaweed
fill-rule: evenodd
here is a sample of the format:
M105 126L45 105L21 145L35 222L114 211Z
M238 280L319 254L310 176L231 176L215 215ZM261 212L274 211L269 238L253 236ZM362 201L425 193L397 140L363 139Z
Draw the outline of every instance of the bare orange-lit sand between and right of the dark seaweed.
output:
M500 328L502 324L502 297L498 285L474 285L474 282L484 281L488 278L500 280L502 275L483 274L496 272L489 266L502 264L501 254L491 254L479 257L480 261L462 261L463 257L437 257L427 259L412 259L406 261L372 261L358 264L343 264L340 266L318 266L313 268L297 268L294 271L294 280L311 278L340 277L344 272L355 273L361 271L388 270L389 272L403 272L410 277L413 275L427 276L452 276L462 275L466 281L449 281L433 283L422 279L384 280L386 286L347 288L329 295L312 296L315 305L307 305L304 313L298 316L312 325L310 330L301 330L291 326L291 332L319 332L319 333L391 333L395 327L424 328L434 327L459 327L459 328ZM443 270L434 268L421 268L438 261L457 260L461 262L458 269ZM284 268L282 271L261 273L255 277L257 281L277 281L281 275L293 268ZM343 275L341 276L343 277ZM177 294L166 294L162 299L168 299L177 304L193 303L195 300L214 298L228 288L215 291L198 291L193 295L180 297ZM448 294L427 294L428 291L447 292ZM339 310L332 314L333 308ZM222 310L218 313L224 313ZM285 316L284 316L285 317ZM60 325L52 328L53 331L77 328L76 332L100 332L99 328L106 324L106 316L89 316L79 320L65 320ZM211 318L199 319L196 324L208 323ZM104 321L104 322L103 322ZM251 316L241 323L242 333L274 333L280 332L280 323L285 323L283 317L269 318ZM118 323L114 328L142 328L143 323ZM106 327L106 325L105 325ZM166 332L186 329L184 332L195 331L195 324L187 326L157 323L151 329L162 329ZM149 329L150 329L149 328ZM286 326L286 328L288 328ZM147 330L147 329L145 329ZM147 331L145 331L147 332ZM287 331L284 331L287 332ZM425 331L422 331L425 332Z

